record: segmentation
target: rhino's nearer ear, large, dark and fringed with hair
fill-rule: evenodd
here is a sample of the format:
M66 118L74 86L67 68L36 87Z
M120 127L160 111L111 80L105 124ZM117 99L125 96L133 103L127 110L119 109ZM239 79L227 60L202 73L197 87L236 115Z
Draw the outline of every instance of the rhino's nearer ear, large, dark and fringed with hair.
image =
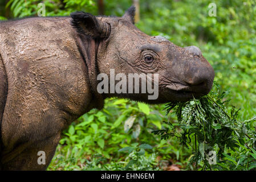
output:
M71 25L80 34L86 34L92 38L108 38L110 34L110 25L98 20L90 13L82 11L71 13Z

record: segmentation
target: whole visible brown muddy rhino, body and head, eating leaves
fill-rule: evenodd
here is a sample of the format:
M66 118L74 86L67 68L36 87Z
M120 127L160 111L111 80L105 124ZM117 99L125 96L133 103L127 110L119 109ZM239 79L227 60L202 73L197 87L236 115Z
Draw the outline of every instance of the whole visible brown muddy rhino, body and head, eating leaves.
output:
M44 170L72 121L117 96L160 104L209 93L214 71L197 47L181 48L123 17L27 18L0 23L0 168ZM149 56L149 57L147 57ZM159 73L159 98L99 94L96 77ZM38 152L46 164L38 164Z

